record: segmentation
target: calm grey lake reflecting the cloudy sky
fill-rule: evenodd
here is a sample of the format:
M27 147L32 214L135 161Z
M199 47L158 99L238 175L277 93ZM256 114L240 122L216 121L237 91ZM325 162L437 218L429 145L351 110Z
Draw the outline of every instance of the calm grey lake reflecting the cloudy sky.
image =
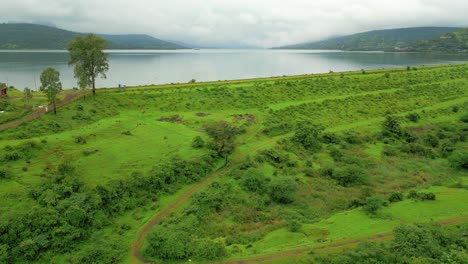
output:
M185 83L468 62L467 55L308 50L112 50L110 70L98 87ZM0 82L40 86L46 67L61 73L64 88L77 86L65 51L0 51Z

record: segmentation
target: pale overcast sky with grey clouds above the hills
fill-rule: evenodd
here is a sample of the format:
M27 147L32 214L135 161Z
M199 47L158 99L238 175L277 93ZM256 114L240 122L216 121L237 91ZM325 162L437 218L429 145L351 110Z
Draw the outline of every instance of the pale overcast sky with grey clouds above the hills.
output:
M467 0L1 0L1 22L273 47L372 29L468 26Z

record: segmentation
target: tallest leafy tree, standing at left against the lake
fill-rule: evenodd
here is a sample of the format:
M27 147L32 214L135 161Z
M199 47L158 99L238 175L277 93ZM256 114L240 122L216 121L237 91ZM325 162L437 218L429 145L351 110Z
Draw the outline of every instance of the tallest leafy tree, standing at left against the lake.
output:
M96 78L106 78L109 70L107 56L103 50L107 47L107 41L93 34L76 37L68 45L70 52L69 65L73 65L78 86L82 89L92 87L96 94Z

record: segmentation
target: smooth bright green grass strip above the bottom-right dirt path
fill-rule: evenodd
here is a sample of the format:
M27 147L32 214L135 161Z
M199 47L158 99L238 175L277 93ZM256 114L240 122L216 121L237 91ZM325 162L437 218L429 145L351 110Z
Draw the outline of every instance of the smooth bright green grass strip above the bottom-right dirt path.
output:
M241 254L233 254L231 257L236 259L297 248L313 248L388 233L401 223L424 223L468 216L468 205L460 202L468 199L466 189L431 187L427 191L435 193L437 200L421 202L406 199L382 208L378 216L374 217L361 209L345 211L316 224L306 224L299 232L278 229L252 247L243 249ZM317 242L318 239L323 242Z

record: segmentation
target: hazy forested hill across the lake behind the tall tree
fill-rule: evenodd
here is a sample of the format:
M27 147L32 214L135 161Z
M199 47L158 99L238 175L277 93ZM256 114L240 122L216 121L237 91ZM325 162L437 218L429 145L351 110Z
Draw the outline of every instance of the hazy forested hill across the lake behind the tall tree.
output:
M0 49L65 49L84 33L36 24L0 24ZM148 35L100 35L109 49L183 49L185 47Z

